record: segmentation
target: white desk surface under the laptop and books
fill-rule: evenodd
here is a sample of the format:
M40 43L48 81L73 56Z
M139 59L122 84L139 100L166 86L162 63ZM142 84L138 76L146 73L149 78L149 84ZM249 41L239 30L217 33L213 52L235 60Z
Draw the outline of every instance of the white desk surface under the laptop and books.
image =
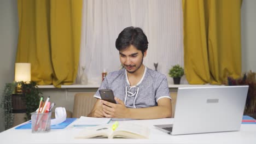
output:
M153 124L170 124L172 118L153 120L119 121L138 123L150 128L149 139L74 139L79 133L72 124L65 129L51 129L49 133L32 134L31 130L11 128L0 133L0 143L256 143L256 124L242 124L240 131L193 135L168 135L154 128Z

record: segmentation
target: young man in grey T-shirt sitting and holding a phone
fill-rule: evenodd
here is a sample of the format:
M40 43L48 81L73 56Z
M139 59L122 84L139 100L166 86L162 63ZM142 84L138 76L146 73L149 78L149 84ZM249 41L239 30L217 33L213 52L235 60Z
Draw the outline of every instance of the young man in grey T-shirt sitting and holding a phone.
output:
M98 98L90 117L154 119L172 116L166 76L143 65L148 39L141 28L127 27L115 41L123 69L109 73L99 89L112 89L117 104ZM99 90L98 89L98 90ZM137 109L136 109L137 108Z

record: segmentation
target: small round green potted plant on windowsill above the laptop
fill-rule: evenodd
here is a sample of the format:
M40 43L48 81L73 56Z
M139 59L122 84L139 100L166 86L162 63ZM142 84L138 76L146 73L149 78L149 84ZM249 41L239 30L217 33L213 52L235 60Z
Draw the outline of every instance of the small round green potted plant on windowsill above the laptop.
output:
M181 77L184 75L184 69L176 64L169 70L169 76L173 78L174 84L181 83Z

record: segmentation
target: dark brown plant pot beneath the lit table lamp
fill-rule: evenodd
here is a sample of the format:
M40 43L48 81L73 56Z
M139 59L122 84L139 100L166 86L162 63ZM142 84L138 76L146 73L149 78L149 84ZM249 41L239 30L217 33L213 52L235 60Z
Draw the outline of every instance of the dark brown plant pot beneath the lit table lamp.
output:
M11 105L13 106L13 113L26 113L26 101L24 95L13 94L11 95Z

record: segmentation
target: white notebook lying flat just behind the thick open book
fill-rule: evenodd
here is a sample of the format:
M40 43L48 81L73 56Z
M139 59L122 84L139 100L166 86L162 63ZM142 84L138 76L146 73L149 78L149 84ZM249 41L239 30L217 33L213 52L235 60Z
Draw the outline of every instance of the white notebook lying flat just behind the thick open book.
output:
M73 127L83 128L102 124L108 124L111 118L95 118L95 117L83 117L81 116L77 121L74 121Z

